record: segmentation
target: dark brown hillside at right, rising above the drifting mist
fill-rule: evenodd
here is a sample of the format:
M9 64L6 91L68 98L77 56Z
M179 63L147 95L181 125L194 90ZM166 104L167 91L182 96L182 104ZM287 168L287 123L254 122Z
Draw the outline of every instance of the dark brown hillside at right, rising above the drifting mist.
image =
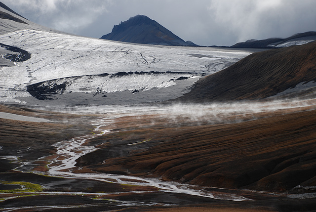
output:
M316 90L313 81L316 81L316 42L253 53L199 80L190 93L179 99L199 102L262 99L281 92L287 96L311 95Z

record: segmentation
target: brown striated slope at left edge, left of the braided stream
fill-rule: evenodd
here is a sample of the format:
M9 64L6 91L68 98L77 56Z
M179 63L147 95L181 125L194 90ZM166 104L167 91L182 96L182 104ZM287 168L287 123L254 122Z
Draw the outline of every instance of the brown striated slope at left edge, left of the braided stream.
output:
M0 112L53 120L51 123L36 123L0 118L0 156L17 156L37 159L51 154L51 145L74 136L89 133L93 127L76 124L82 117L53 112L37 111L13 106L0 105ZM69 123L64 122L69 120ZM7 162L0 160L0 171L6 171Z

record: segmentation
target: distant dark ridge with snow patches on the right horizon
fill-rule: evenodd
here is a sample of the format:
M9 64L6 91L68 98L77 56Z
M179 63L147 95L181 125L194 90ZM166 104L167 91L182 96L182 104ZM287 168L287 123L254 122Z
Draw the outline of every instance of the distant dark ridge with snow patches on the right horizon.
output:
M248 40L238 42L230 47L232 48L279 48L291 45L304 44L316 40L316 32L298 33L288 38L269 38L265 40Z

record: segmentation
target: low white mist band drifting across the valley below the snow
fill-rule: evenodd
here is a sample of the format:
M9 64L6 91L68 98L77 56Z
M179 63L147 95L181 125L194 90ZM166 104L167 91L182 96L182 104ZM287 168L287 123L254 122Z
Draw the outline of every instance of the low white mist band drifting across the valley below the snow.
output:
M114 123L116 119L145 119L148 125L200 126L239 123L264 117L315 109L316 99L288 99L265 101L236 101L205 104L138 104L98 105L68 108L46 107L44 110L80 115L97 115L101 122ZM144 125L144 124L143 124Z

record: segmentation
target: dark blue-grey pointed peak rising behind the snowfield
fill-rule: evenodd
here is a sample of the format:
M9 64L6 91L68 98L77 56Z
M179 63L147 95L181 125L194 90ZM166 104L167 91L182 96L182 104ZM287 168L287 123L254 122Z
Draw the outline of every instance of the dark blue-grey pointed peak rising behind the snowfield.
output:
M101 39L142 44L197 46L191 41L183 41L145 15L136 15L115 25L112 32L102 36Z

